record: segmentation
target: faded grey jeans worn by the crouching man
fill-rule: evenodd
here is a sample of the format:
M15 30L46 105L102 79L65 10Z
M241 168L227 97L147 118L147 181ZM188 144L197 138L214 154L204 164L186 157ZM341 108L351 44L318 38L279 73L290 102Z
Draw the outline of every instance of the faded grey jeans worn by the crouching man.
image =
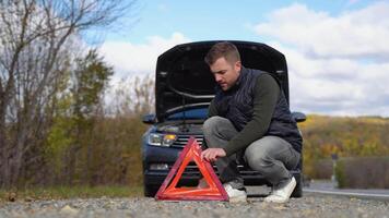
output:
M205 120L203 133L207 146L213 148L224 148L228 141L238 134L228 119L217 116ZM263 136L248 145L245 150L219 158L215 164L221 181L228 182L235 189L244 186L244 180L237 169L239 157L278 189L292 179L290 170L298 165L300 154L281 137Z

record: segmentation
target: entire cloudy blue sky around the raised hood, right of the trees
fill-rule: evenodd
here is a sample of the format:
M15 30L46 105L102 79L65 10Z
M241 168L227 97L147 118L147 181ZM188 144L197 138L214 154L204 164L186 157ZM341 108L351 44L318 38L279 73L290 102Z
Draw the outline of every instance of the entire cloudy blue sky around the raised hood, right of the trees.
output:
M178 44L249 40L285 55L292 111L389 117L388 0L139 0L128 14L99 48L114 84Z

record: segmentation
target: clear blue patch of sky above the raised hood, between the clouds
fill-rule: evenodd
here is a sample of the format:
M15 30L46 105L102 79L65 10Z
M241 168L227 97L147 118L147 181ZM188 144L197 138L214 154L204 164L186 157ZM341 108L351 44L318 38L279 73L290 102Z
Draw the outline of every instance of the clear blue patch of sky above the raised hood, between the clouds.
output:
M331 15L347 10L361 9L373 1L351 0L144 0L135 8L138 22L120 33L109 33L108 40L129 40L141 44L146 37L158 35L169 37L174 32L184 33L193 40L241 39L267 40L249 26L267 19L269 12L293 3L303 3L313 10ZM128 20L128 23L132 23Z

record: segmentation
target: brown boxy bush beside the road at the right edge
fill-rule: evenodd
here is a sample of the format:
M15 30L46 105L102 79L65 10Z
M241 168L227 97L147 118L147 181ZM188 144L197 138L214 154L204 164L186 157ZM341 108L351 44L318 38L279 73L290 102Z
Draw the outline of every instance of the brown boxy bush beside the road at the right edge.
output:
M389 189L389 157L342 158L335 175L341 189Z

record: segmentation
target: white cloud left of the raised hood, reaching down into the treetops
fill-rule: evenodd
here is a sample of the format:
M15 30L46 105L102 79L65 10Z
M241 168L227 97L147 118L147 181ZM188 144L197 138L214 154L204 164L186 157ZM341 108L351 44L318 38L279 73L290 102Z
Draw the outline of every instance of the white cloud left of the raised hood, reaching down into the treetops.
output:
M180 33L174 33L169 38L151 36L145 44L132 44L129 41L106 41L99 49L105 61L114 66L115 74L106 92L105 101L107 106L118 102L115 93L123 90L123 86L130 87L134 76L154 77L156 60L160 55L178 44L188 43L190 39ZM133 90L128 90L131 95ZM119 100L120 101L120 100Z

